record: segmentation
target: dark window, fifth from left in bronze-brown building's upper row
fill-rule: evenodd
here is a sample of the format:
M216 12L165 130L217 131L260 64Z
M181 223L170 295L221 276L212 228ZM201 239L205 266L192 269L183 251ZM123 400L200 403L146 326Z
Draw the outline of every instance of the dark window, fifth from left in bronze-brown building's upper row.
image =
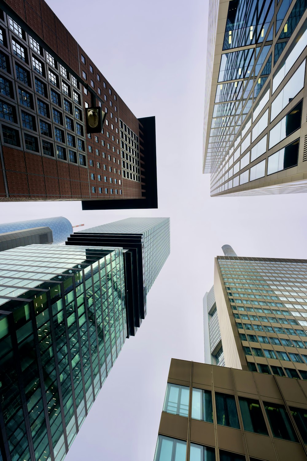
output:
M289 415L284 405L278 403L263 402L266 416L269 420L273 437L297 442L295 431L290 422Z

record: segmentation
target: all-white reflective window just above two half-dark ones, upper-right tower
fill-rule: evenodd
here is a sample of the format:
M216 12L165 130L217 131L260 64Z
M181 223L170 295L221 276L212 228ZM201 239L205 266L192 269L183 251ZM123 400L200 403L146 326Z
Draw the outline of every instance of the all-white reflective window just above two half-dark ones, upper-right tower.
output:
M297 71L290 78L288 83L276 96L271 104L271 122L287 106L290 101L304 88L306 59L301 63Z

